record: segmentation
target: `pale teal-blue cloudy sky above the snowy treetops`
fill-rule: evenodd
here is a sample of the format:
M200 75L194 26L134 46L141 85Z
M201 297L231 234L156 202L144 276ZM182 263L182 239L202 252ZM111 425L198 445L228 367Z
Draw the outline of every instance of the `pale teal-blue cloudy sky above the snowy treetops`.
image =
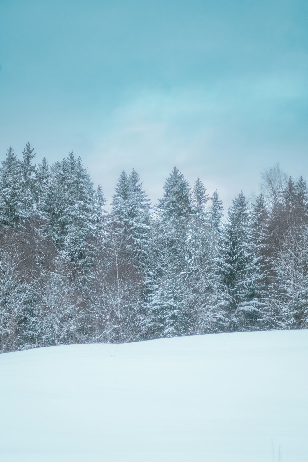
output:
M307 0L0 0L0 159L80 156L110 199L176 165L225 207L308 180Z

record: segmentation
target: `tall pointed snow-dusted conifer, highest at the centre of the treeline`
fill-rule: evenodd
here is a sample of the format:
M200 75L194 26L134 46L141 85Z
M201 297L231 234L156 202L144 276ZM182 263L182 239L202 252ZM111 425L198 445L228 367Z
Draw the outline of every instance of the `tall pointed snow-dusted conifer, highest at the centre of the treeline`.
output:
M156 336L172 337L186 333L189 275L188 239L193 216L190 186L174 167L163 187L158 205L157 266L152 278L147 327Z

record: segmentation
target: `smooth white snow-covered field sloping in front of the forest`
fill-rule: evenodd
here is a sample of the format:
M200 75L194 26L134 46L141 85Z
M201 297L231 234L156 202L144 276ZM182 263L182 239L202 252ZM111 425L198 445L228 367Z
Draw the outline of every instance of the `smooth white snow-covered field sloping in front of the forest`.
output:
M0 461L307 462L307 366L308 330L6 353Z

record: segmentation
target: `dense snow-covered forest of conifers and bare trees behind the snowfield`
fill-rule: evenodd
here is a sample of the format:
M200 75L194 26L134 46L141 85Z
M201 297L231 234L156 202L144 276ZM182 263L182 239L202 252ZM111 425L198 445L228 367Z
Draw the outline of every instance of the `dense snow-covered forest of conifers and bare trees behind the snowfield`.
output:
M136 170L106 210L80 158L0 167L0 351L308 327L308 192L279 165L260 194L191 186L151 206Z

